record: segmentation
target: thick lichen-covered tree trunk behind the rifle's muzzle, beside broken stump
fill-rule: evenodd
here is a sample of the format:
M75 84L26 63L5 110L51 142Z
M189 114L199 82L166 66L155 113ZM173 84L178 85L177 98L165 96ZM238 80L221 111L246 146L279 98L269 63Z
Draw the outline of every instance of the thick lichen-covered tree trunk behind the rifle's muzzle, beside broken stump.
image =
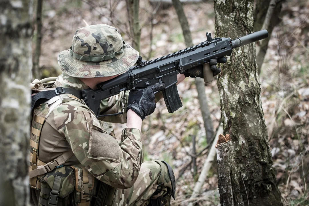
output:
M216 0L216 36L253 32L253 0ZM218 78L224 133L231 134L244 205L282 206L260 99L255 47L233 50ZM243 178L243 179L242 179Z

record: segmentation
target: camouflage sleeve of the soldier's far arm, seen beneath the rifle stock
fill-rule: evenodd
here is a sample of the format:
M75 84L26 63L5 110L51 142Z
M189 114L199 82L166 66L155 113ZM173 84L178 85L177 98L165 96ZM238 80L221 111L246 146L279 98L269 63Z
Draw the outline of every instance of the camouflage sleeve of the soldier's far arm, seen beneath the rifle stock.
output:
M125 97L129 98L129 92L125 92ZM118 95L114 95L112 97L109 97L107 99L103 99L100 103L100 114L106 115L106 114L115 114L121 111L121 98L124 96L124 92L120 92ZM160 99L163 98L162 91L155 94L155 103L159 102ZM127 104L125 104L125 111L126 111ZM102 120L104 122L112 122L112 123L126 123L127 122L127 113L123 115L117 115L117 116L107 116L107 117L99 117L99 120Z

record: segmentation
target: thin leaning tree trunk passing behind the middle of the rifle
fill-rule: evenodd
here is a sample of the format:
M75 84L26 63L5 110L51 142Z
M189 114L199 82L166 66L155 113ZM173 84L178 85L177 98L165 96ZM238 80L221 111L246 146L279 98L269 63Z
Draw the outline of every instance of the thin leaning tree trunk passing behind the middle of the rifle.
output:
M176 13L178 15L178 20L182 28L182 33L184 35L184 41L187 47L193 46L192 37L190 32L190 27L186 15L184 14L184 9L179 0L172 0ZM197 88L197 98L200 103L201 113L204 121L204 127L206 131L207 142L209 143L214 136L214 126L210 118L209 107L207 104L206 94L205 94L205 83L202 78L195 78L195 84Z

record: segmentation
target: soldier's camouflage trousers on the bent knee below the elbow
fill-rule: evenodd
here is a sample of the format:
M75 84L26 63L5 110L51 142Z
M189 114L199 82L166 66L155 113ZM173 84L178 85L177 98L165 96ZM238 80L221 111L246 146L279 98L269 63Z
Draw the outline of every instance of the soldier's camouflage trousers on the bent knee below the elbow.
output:
M153 195L158 185L163 184L162 191ZM171 178L167 166L158 160L143 162L134 185L128 189L117 189L113 206L146 206L150 197L156 199L164 196L165 206L171 201Z

